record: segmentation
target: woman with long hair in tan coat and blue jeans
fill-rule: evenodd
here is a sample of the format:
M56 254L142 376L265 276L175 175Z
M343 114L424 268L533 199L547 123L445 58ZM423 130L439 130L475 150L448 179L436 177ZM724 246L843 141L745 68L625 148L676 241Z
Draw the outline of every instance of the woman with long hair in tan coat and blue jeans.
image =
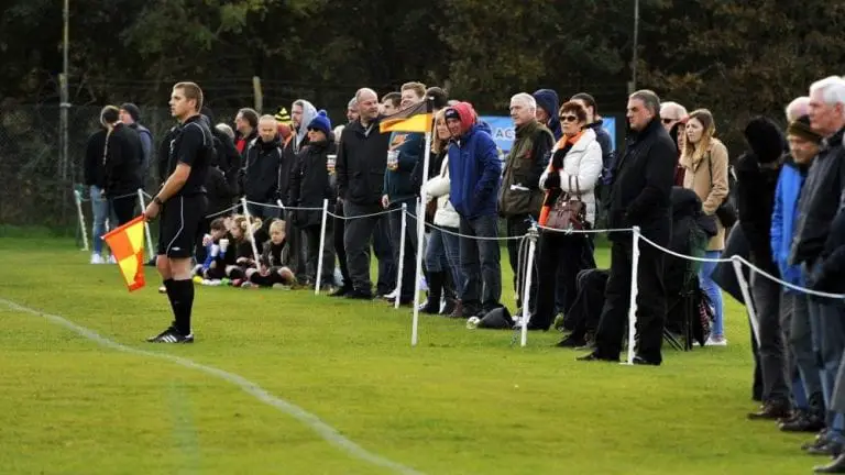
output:
M683 187L692 189L701 198L705 214L715 214L716 209L727 198L727 148L713 136L715 132L713 115L706 109L690 113L687 121L687 141L681 155L681 166L685 169ZM716 219L718 233L707 243L705 257L717 258L725 248L725 228ZM704 263L699 272L701 289L710 297L714 307L715 321L709 345L727 344L723 324L722 290L711 278L714 263Z

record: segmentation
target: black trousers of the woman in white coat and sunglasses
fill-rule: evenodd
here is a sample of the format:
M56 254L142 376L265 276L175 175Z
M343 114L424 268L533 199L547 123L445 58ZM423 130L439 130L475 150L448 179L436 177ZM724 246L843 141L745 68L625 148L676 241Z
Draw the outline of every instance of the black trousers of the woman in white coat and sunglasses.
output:
M564 312L572 307L578 295L577 279L581 272L581 256L589 246L584 234L566 235L555 231L541 231L537 254L537 311L531 317L531 327L547 330L555 320L556 287L566 288ZM557 277L557 278L556 278Z

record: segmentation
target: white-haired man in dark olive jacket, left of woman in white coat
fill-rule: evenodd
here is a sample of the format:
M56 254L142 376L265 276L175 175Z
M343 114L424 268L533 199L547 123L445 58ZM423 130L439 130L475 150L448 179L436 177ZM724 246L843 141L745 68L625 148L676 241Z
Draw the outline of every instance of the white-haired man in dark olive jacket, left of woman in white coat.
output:
M505 158L505 174L498 195L498 212L507 221L508 238L525 235L531 225L531 218L539 219L542 208L544 194L539 180L549 164L555 137L537 121L536 111L537 101L531 95L520 92L511 98L511 119L516 128L516 140ZM519 241L509 240L507 253L514 269L514 287L518 290ZM537 279L533 281L536 284ZM517 306L522 305L520 297L522 292L517 291Z

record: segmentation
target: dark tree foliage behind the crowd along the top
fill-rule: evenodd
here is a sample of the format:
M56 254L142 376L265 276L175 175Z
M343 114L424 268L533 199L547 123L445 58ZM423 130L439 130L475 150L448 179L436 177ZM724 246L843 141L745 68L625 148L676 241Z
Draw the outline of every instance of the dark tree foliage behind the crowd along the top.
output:
M61 3L9 0L0 16L0 97L57 99ZM479 110L540 87L585 90L621 111L630 80L630 0L70 0L72 101L162 103L194 79L211 103L275 107L310 95L342 108L362 86L449 86ZM808 85L841 74L845 4L821 0L641 0L638 87L722 129L780 118ZM37 32L33 34L33 32Z

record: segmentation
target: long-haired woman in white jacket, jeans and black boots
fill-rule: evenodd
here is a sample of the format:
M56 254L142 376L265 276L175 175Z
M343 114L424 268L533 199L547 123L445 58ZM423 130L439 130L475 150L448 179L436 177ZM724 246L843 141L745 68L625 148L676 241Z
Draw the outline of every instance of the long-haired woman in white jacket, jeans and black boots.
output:
M440 165L439 172L426 181L428 200L437 202L435 227L431 229L426 248L428 302L422 308L424 312L431 314L440 312L440 297L448 288L463 288L460 245L457 236L460 220L458 211L449 202L449 154L447 151L451 133L446 126L445 112L440 111L435 117L435 136L431 143L431 153L435 155L432 164ZM449 292L446 291L446 294ZM462 317L460 302L454 301L450 295L446 297L443 313Z

